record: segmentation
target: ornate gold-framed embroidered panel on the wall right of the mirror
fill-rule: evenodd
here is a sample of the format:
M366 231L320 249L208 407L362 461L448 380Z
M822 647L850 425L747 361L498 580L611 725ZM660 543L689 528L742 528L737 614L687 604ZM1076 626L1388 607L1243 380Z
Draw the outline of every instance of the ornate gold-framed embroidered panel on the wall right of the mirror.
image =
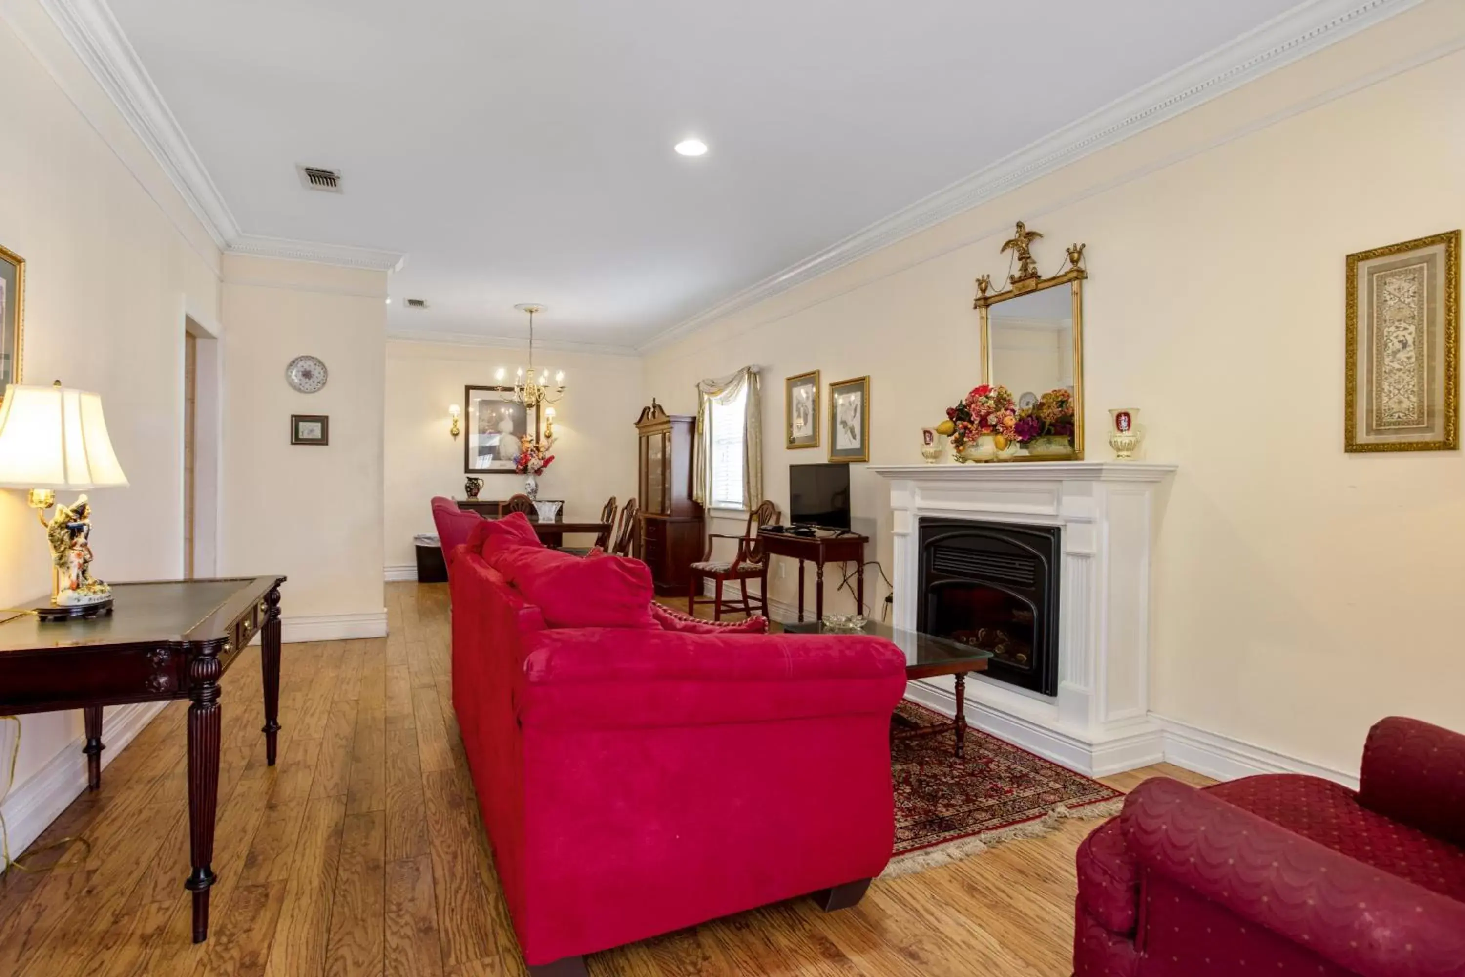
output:
M1459 448L1461 233L1348 255L1343 451Z

